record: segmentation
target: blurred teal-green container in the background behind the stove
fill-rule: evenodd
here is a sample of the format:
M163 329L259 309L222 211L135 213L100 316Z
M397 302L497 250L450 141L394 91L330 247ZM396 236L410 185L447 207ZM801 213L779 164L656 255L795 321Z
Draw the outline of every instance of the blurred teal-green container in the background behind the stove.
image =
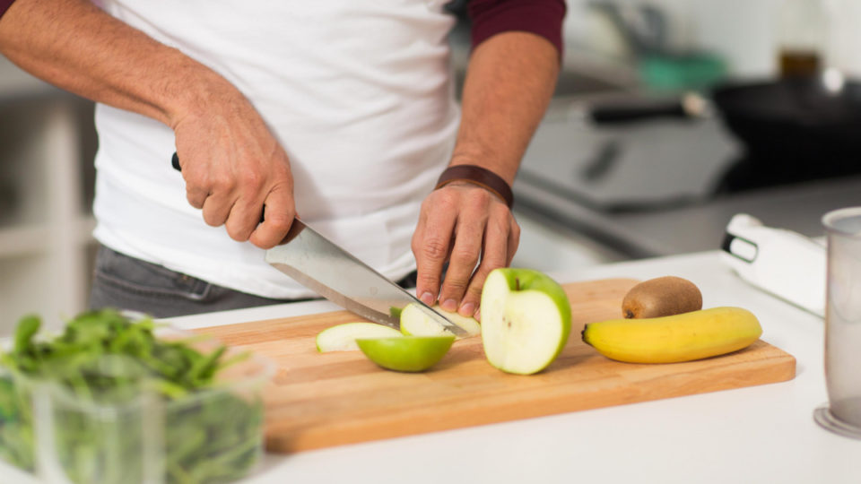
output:
M726 63L718 56L692 52L686 54L647 54L639 60L639 77L653 91L700 91L726 78Z

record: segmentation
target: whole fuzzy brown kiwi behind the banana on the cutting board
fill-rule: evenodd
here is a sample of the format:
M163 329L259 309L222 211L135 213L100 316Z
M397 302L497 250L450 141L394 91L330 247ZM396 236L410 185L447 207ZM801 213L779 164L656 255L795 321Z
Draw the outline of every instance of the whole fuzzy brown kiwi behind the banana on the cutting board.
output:
M693 282L674 276L640 282L622 299L622 316L628 319L680 315L700 309L700 289Z

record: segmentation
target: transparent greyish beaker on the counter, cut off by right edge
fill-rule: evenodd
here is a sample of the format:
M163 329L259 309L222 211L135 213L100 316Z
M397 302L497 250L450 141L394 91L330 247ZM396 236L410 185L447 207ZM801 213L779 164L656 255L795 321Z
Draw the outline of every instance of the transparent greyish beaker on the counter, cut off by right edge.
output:
M822 217L828 235L825 384L828 404L814 419L833 432L861 438L861 207Z

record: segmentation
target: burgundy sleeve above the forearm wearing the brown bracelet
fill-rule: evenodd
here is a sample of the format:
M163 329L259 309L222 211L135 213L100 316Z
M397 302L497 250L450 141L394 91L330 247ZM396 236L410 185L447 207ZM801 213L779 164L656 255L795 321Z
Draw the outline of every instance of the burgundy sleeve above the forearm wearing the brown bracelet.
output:
M561 56L565 0L472 0L467 5L473 48L500 32L518 30L550 40Z

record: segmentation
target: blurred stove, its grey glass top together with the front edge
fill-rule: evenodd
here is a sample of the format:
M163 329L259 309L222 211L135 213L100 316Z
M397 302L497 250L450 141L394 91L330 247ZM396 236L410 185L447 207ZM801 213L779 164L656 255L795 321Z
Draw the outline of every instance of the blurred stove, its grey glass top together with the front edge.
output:
M735 213L822 235L830 210L861 204L861 177L722 190L743 150L718 119L587 125L558 100L514 184L516 209L620 258L717 249Z

